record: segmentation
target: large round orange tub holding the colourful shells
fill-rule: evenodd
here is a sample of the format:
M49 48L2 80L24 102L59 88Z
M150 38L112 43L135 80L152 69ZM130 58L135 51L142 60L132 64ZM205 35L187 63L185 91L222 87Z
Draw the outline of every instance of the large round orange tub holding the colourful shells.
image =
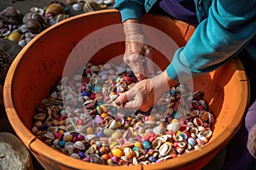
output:
M55 86L61 77L73 48L91 32L120 23L120 14L114 9L74 16L55 24L33 38L32 42L20 51L11 65L3 88L7 116L15 133L45 169L120 170L127 168L73 159L50 148L31 132L35 103L49 95L49 89ZM191 35L189 33L184 38L180 25L165 16L147 14L144 16L144 24L165 32L179 46L183 46ZM91 43L82 48L97 49L99 48L97 45L111 42L112 37L124 37L122 29L115 32L108 30L105 33L110 35L107 39L101 39L101 37L96 40L91 39ZM157 37L154 38L157 43ZM113 56L124 54L124 50L124 41L113 42L106 47L99 48L90 61L94 64L102 64L112 59ZM164 70L169 60L160 50L155 52L154 56L154 62ZM86 55L79 55L75 60L77 62L69 69L83 67ZM209 143L201 150L195 150L175 159L154 165L137 165L129 169L200 169L211 161L212 157L234 136L240 127L248 99L247 77L239 59L231 60L217 71L196 77L194 83L195 90L200 89L205 92L204 99L216 118Z

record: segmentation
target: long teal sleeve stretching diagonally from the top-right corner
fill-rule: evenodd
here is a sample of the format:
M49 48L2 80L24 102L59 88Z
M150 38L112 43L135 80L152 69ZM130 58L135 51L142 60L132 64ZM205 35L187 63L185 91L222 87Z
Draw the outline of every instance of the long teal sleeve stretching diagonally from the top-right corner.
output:
M213 71L236 56L255 34L255 0L212 0L207 19L174 54L167 74L178 81L186 75Z

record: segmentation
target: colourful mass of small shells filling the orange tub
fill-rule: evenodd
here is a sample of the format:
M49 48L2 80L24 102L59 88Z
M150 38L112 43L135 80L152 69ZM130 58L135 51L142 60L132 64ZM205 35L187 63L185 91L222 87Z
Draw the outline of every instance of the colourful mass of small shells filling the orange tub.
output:
M173 87L148 111L115 105L137 83L125 64L87 64L36 104L32 133L61 153L111 166L153 164L203 147L214 116L203 93Z

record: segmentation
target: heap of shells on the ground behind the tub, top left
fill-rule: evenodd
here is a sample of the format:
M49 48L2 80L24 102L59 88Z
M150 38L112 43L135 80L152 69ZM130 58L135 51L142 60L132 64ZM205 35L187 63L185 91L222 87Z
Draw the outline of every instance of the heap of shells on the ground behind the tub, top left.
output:
M0 37L18 43L22 48L49 26L70 17L68 7L74 11L87 13L111 8L113 0L67 0L64 3L53 1L47 7L32 7L27 14L21 14L14 7L4 8L0 12Z

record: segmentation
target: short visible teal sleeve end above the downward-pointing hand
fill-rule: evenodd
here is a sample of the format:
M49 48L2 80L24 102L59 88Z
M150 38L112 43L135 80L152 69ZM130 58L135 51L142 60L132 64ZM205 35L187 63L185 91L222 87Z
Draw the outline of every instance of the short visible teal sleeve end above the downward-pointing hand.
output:
M141 0L116 0L113 8L119 10L122 17L122 22L128 19L142 20L143 4L144 1Z

